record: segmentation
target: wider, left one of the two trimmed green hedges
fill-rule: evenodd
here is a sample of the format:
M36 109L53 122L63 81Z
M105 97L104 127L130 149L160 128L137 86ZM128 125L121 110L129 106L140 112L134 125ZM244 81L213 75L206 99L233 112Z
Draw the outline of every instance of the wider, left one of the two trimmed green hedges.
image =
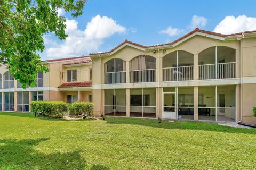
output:
M36 115L49 117L63 117L67 111L67 104L62 101L31 101L31 112Z

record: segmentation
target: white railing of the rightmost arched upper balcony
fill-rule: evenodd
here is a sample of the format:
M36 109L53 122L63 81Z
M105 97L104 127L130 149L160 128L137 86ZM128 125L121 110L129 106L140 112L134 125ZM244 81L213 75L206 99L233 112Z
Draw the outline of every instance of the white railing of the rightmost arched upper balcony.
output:
M216 69L217 68L217 69ZM199 79L230 79L236 77L236 63L198 65Z

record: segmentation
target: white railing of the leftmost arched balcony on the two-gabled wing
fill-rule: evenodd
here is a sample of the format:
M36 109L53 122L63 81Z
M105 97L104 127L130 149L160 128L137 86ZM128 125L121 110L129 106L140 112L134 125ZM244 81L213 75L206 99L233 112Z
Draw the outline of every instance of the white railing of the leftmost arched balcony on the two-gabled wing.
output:
M126 72L119 71L119 72L110 72L104 73L104 82L105 84L119 84L119 83L126 83Z

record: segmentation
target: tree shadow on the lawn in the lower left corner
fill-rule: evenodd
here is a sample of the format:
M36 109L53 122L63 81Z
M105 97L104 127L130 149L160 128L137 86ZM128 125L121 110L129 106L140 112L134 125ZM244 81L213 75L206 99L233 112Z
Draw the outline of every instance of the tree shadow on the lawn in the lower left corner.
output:
M0 140L0 169L84 169L79 151L43 154L34 149L49 138Z

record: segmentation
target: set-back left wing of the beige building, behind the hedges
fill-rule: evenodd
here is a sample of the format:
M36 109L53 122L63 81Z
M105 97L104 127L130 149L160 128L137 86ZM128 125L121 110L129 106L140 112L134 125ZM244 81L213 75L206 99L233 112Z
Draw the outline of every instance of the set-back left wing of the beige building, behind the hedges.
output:
M0 108L2 111L28 112L30 101L50 100L72 103L91 101L92 63L81 56L42 61L49 72L37 73L36 86L23 89L8 67L0 65Z

